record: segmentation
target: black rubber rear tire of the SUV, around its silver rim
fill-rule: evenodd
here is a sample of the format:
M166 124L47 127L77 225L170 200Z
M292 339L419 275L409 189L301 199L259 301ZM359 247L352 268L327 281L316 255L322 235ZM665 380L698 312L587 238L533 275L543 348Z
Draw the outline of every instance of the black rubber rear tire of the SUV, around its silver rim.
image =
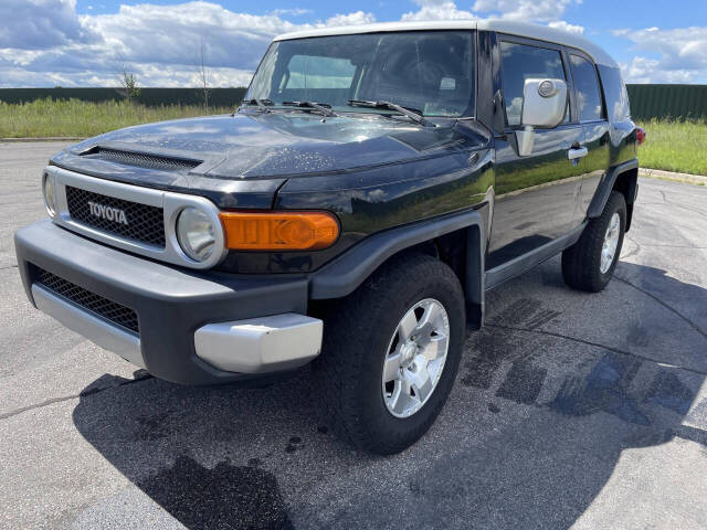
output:
M619 218L618 242L611 263L605 268L608 261L602 264L602 250L604 242L608 241L609 229L615 219L614 215ZM626 202L623 194L612 191L602 214L592 219L579 241L562 252L564 283L574 289L588 293L603 290L614 274L616 263L619 263L625 227Z

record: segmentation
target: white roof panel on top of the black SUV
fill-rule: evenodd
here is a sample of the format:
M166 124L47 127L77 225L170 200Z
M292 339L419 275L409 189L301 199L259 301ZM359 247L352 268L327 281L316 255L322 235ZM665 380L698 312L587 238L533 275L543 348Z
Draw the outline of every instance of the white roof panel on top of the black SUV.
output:
M386 31L420 30L481 30L496 31L516 36L527 36L539 41L564 44L588 53L595 63L616 67L613 59L592 41L563 30L547 25L514 22L508 20L430 20L420 22L383 22L378 24L344 25L339 28L319 28L316 30L296 31L275 38L275 41L306 39L308 36L351 35L356 33L379 33Z

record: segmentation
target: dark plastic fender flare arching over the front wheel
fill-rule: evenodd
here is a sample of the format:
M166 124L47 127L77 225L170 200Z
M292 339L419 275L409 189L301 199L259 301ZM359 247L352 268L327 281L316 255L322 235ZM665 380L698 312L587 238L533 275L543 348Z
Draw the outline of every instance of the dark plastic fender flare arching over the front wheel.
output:
M309 277L309 298L345 297L399 252L458 230L466 230L465 277L460 279L464 285L468 319L481 326L486 239L483 218L476 210L464 210L369 235Z

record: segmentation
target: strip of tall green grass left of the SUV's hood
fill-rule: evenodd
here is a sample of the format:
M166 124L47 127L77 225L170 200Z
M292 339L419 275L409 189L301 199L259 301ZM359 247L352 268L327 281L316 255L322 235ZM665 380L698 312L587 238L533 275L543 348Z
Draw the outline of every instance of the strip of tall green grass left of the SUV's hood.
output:
M78 99L38 99L21 105L0 102L0 138L50 136L91 137L130 125L204 114L232 113L226 108L169 105L145 107L123 102L88 103Z

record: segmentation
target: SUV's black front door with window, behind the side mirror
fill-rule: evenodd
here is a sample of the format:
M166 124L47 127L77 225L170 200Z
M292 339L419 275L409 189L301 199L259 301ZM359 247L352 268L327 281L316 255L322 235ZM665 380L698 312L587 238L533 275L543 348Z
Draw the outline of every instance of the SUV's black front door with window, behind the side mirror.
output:
M495 268L567 234L577 224L582 126L571 113L571 78L562 47L499 35L506 127L496 139L496 200L486 268ZM520 156L515 132L521 129L527 78L559 78L568 84L566 119L552 129L535 129L529 156ZM574 149L577 148L577 149Z

